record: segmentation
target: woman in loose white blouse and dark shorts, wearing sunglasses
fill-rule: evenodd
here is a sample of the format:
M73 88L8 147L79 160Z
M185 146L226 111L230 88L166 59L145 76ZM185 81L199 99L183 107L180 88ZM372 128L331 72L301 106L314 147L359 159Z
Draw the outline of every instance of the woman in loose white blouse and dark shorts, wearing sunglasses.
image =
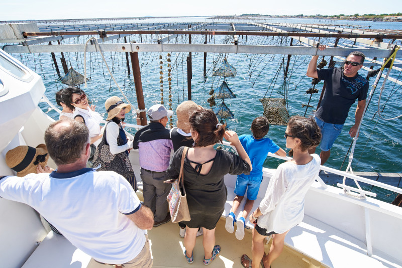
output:
M287 232L304 217L304 199L320 172L320 157L310 155L309 149L321 141L321 131L310 117L290 117L285 131L286 148L292 149L293 158L282 163L269 180L264 199L250 215L253 229L252 260L244 254L244 267L270 267L283 249ZM264 253L264 239L272 235L268 255Z

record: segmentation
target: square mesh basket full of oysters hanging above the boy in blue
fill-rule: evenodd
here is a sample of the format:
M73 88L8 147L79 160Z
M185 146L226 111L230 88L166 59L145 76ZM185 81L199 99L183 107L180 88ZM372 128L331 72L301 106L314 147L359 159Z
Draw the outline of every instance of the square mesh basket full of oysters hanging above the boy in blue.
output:
M287 125L289 122L289 113L286 109L286 101L282 98L262 98L260 99L264 106L264 114L270 124Z

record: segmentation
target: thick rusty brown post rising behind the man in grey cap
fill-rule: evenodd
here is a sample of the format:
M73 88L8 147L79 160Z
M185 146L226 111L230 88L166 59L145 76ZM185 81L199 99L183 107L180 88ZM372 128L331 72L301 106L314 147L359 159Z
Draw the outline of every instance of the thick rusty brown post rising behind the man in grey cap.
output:
M136 43L136 42L133 42ZM140 62L138 61L138 52L130 52L131 66L133 67L133 77L135 92L137 94L138 109L145 110L144 93L142 92ZM137 113L137 124L147 125L147 115L145 111Z

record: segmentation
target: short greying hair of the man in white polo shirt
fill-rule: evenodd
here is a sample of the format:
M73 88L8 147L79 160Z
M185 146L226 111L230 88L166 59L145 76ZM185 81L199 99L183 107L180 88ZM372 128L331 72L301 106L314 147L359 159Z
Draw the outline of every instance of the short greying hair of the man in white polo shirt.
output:
M69 126L56 127L62 122L68 122ZM53 122L45 131L47 151L57 166L76 162L88 143L88 127L72 119Z

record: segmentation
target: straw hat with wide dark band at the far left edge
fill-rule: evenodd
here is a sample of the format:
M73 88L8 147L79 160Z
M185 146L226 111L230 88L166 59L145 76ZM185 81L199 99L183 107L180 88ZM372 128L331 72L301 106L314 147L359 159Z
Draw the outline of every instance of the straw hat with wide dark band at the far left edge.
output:
M7 166L17 171L18 177L36 173L38 165L45 168L48 160L49 154L44 144L40 144L36 148L27 145L17 146L6 154Z

